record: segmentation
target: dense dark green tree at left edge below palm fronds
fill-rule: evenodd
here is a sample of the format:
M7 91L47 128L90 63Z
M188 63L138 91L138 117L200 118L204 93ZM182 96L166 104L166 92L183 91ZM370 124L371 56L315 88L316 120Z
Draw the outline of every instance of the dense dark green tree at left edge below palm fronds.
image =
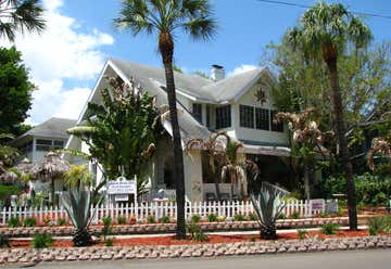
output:
M21 52L0 48L0 132L20 134L15 127L28 116L34 88Z

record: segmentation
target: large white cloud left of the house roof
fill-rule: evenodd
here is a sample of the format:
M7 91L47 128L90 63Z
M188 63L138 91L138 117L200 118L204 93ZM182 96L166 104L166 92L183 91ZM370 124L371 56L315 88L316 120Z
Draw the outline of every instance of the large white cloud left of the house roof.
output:
M47 29L38 34L17 36L15 46L22 51L38 90L33 93L29 123L41 123L51 116L77 118L89 89L64 88L64 79L88 81L104 64L102 46L114 39L99 29L83 31L78 22L61 14L63 0L43 0ZM7 42L0 40L0 44Z

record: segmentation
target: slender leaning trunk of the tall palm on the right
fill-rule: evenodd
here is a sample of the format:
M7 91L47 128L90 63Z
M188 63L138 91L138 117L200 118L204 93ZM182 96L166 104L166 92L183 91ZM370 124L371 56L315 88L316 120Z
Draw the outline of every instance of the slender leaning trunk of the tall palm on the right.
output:
M356 208L356 194L353 181L353 169L350 162L350 154L348 149L348 139L345 137L346 128L343 120L341 90L339 87L337 57L326 61L330 73L330 85L332 90L332 103L335 114L336 132L340 145L340 155L346 180L346 194L348 194L348 213L349 213L349 227L350 230L357 230L357 208Z

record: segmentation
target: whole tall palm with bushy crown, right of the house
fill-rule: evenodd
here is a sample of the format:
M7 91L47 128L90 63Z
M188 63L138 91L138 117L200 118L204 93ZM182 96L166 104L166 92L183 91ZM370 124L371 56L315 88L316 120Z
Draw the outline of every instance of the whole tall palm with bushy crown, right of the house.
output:
M339 141L340 156L346 179L350 229L357 229L357 210L352 164L345 137L341 89L338 78L338 57L349 44L354 49L368 46L371 34L369 28L340 3L327 4L323 1L310 8L301 17L299 26L287 34L295 50L311 59L321 55L330 76L333 103L333 120Z

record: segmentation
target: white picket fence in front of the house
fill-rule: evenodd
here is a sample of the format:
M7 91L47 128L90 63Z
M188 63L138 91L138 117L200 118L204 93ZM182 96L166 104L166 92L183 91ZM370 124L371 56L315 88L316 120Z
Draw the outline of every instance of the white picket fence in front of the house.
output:
M320 201L321 202L321 201ZM293 213L300 217L312 217L325 212L325 203L317 201L316 206L308 201L288 202L283 210L286 217L290 217ZM130 218L138 222L148 222L151 216L159 220L163 216L168 216L172 220L176 219L177 207L175 202L146 202L136 204L121 205L101 205L91 208L93 213L92 223L98 223L103 217L110 216L116 222L119 216L125 217L126 221ZM223 201L223 202L187 202L185 207L186 218L189 220L193 215L199 215L202 219L214 214L218 217L232 219L235 215L248 216L252 214L253 205L250 201ZM66 210L62 207L45 207L45 208L26 208L26 207L4 207L0 212L0 225L7 226L11 217L16 217L23 221L25 218L34 217L38 225L50 222L59 223L60 218L65 219L70 223Z

